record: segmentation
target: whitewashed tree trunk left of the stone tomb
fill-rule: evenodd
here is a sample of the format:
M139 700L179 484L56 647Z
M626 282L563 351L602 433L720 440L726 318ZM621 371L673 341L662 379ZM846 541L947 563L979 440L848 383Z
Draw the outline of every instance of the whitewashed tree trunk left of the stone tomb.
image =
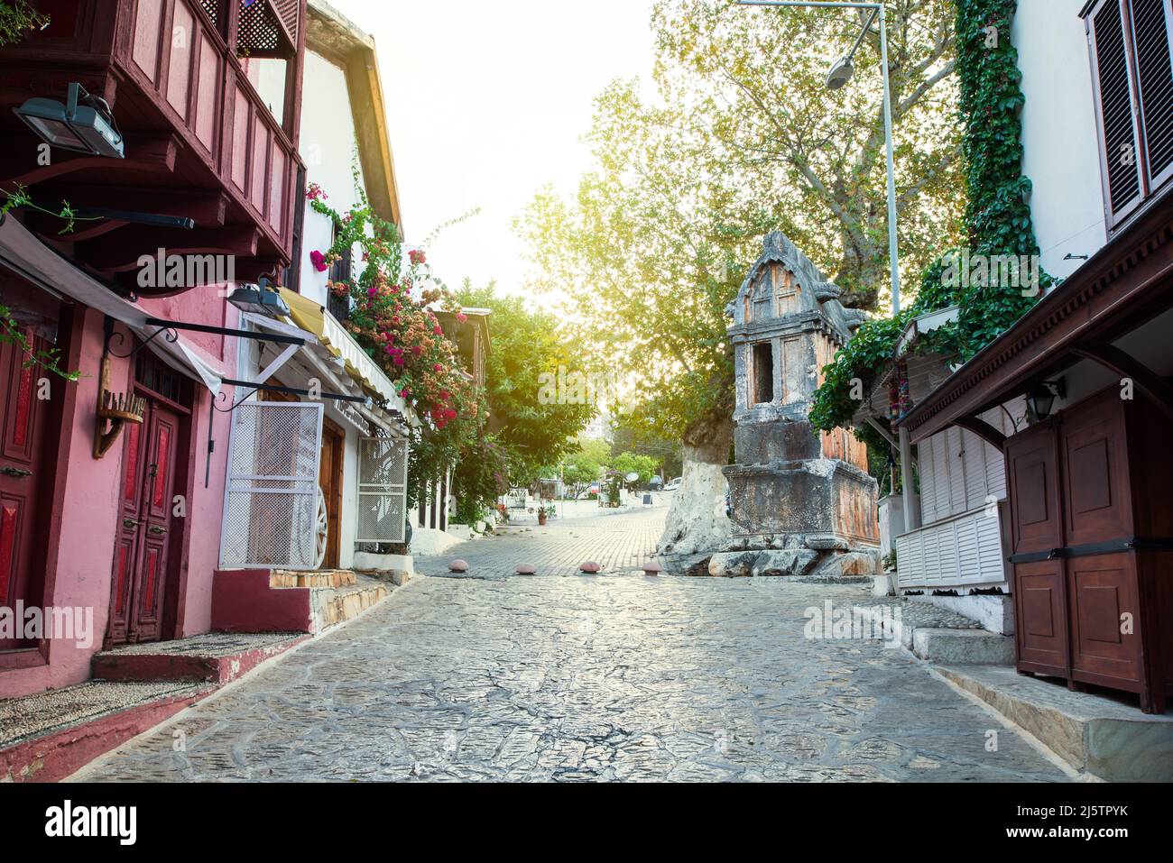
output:
M721 468L728 464L733 422L728 414L705 419L684 436L680 488L672 494L660 555L700 555L728 549L732 525L725 515L728 488Z

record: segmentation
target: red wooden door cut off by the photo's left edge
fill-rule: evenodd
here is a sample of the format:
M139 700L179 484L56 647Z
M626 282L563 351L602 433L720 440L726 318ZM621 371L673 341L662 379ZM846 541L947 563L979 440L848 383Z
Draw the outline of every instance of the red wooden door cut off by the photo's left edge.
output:
M32 332L26 332L34 349L49 347ZM45 439L49 434L49 400L40 399L38 380L41 372L25 365L26 354L8 342L0 344L0 606L15 607L18 600L40 605L30 596L36 569L42 564L36 542L45 535L39 523L39 505L45 476ZM49 393L61 381L49 381ZM19 639L0 639L0 650L34 646Z

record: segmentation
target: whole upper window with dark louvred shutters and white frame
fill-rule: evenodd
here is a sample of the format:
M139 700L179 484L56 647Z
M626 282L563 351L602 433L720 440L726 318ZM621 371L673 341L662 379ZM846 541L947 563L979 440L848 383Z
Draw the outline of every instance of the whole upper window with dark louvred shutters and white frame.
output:
M1173 176L1171 0L1100 0L1087 15L1110 227Z

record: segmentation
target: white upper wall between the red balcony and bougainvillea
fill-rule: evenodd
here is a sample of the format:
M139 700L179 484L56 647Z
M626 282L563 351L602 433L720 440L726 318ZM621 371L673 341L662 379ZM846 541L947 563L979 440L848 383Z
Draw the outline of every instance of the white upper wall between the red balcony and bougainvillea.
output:
M358 204L351 174L355 162L355 127L351 114L351 98L346 74L325 57L313 52L305 54L305 81L301 87L301 140L299 151L306 164L306 183L317 183L330 196L326 201L335 211L345 213ZM362 182L362 169L359 167ZM326 276L310 263L310 252L330 249L332 226L330 219L305 208L305 227L301 239L301 294L326 305ZM354 257L360 265L359 256Z

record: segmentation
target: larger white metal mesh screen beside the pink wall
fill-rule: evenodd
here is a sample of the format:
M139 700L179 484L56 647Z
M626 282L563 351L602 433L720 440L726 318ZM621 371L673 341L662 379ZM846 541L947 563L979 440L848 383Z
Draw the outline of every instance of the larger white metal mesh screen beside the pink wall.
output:
M312 570L321 405L244 402L232 414L222 566Z

